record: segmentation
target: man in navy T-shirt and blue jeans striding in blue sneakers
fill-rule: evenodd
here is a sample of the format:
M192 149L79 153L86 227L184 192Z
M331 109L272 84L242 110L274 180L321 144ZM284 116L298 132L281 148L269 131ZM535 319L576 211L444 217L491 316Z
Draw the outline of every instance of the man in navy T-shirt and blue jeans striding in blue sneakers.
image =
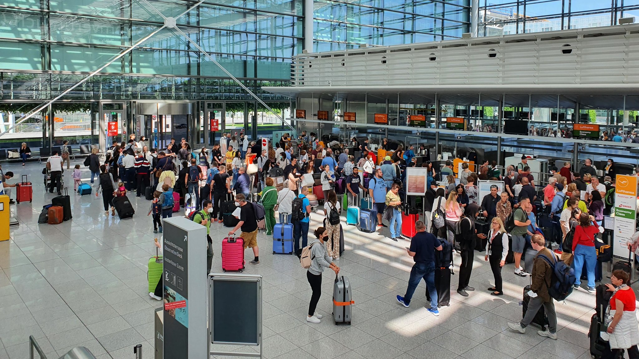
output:
M437 289L435 287L435 250L442 250L442 243L433 234L426 232L426 224L424 221L415 222L415 231L417 233L410 241L410 248L406 248L408 256L413 257L413 269L410 270L410 278L408 279L408 288L404 296L397 296L397 302L408 308L410 300L413 298L415 288L419 281L424 279L428 293L431 296L431 307L428 310L433 316L439 316L437 309Z

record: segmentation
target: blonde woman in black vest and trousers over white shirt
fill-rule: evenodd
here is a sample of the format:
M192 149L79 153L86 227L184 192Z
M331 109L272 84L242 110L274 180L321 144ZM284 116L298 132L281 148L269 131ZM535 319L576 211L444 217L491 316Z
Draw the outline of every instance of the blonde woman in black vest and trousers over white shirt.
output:
M492 291L490 295L504 295L502 291L502 267L506 264L506 256L508 255L508 234L504 229L502 218L493 217L488 231L488 243L486 243L486 255L484 261L490 263L490 269L493 270L495 277L495 286L489 287Z

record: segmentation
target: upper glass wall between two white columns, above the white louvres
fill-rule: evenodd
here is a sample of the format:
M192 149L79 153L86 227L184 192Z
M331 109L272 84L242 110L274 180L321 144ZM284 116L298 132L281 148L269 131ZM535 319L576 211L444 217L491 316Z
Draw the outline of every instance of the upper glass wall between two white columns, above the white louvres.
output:
M470 0L315 0L313 52L461 38Z

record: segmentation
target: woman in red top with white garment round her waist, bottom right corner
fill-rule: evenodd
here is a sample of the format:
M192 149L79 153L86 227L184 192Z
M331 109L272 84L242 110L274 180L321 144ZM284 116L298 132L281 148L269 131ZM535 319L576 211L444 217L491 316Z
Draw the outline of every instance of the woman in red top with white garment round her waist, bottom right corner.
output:
M612 272L612 284L606 284L606 287L613 294L610 298L610 312L604 317L604 323L608 325L608 342L615 354L613 356L617 358L620 351L628 349L629 358L636 359L639 358L639 323L636 317L635 291L627 286L629 279L628 273L623 270Z

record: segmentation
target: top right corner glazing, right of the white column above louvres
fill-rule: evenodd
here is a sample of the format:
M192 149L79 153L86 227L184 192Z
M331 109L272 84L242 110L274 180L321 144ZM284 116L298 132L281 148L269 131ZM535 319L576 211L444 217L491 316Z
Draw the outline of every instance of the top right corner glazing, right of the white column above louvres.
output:
M478 35L611 26L635 15L639 15L637 0L479 0Z

